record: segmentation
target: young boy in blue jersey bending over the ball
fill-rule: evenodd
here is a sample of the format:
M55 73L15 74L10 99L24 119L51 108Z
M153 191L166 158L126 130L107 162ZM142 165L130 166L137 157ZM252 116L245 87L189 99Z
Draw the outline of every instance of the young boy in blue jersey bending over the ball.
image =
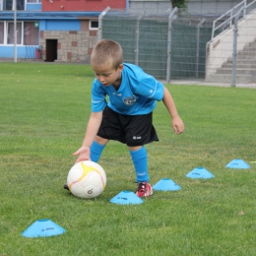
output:
M137 196L153 194L149 183L145 144L159 141L153 126L156 100L162 100L176 134L184 131L174 101L167 89L138 66L123 63L121 46L112 40L96 43L91 56L96 74L92 89L92 113L82 147L73 155L81 160L99 160L108 140L127 145L133 161ZM108 96L108 102L105 99ZM64 185L67 188L67 185Z

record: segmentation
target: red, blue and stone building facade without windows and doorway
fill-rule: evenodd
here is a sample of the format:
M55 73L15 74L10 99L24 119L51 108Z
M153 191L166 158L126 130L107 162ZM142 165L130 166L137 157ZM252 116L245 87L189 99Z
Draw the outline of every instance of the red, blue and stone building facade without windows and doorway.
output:
M0 0L1 2L1 0ZM17 20L34 20L39 23L36 45L17 45L18 58L46 58L46 40L58 42L57 61L89 62L92 49L97 41L97 30L90 30L90 20L97 17L107 6L126 11L128 0L41 0L41 3L26 3L25 11L18 12ZM28 11L27 11L28 10ZM0 21L12 21L13 12L6 12ZM3 30L2 30L3 31ZM2 32L7 38L7 31ZM2 37L3 37L2 36ZM52 49L48 52L53 51ZM0 57L14 57L14 44L0 44Z

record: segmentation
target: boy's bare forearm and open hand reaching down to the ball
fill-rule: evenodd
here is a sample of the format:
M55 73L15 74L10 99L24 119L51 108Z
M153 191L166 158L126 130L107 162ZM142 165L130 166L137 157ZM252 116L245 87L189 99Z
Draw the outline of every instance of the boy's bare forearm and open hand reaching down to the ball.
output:
M100 126L101 120L102 111L91 113L82 147L73 154L74 156L79 156L76 162L79 162L81 160L90 160L90 147L96 138L96 133Z

